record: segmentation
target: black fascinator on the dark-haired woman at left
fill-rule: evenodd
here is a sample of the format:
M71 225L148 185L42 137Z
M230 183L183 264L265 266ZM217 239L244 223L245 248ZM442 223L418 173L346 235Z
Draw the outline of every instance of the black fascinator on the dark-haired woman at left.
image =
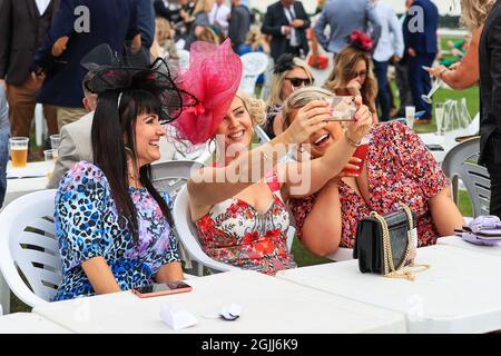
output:
M126 50L126 56L120 58L108 44L100 44L81 60L81 66L94 71L94 77L85 86L98 96L127 89L141 89L155 95L161 102L160 123L176 120L184 108L198 103L195 96L177 86L176 78L164 59L157 58L155 62L147 65L144 51L132 53Z

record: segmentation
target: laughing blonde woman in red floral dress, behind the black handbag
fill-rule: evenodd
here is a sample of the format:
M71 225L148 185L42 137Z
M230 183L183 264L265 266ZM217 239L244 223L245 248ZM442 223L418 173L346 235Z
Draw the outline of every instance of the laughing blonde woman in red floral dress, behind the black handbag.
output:
M283 107L285 127L295 123L308 102L332 97L332 92L315 87L297 90ZM341 123L330 121L302 145L313 159L318 159L343 135ZM400 122L389 122L374 126L370 136L367 154L357 164L361 169L352 171L355 176L340 175L315 194L289 200L301 241L313 254L326 256L340 246L353 248L362 218L373 210L392 212L400 202L416 215L420 247L435 244L440 236L453 235L463 224L451 198L450 180L414 131Z

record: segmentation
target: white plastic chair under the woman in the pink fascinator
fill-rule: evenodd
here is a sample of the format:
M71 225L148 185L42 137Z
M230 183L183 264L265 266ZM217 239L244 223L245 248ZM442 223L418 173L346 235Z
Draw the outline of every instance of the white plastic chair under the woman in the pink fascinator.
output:
M191 222L191 214L189 212L188 204L188 190L186 186L177 195L176 201L174 202L174 224L179 234L179 238L183 245L188 250L193 259L195 259L200 265L209 268L213 273L217 271L229 271L238 270L240 268L230 266L227 264L219 263L210 257L208 257L202 249L200 241L198 239L198 231L196 226ZM292 243L294 239L295 229L289 227L287 233L287 249L291 250Z

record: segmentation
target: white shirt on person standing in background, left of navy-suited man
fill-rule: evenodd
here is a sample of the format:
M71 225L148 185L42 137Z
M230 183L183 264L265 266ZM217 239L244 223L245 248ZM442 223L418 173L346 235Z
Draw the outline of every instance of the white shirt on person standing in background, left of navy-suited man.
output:
M404 52L402 23L399 21L395 11L381 1L376 3L375 11L381 21L381 38L374 50L374 60L385 62L393 55L402 58Z

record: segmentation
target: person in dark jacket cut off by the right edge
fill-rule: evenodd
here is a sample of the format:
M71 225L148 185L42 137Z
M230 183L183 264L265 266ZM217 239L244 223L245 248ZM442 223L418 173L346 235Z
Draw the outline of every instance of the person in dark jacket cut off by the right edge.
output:
M501 218L501 0L485 19L479 43L480 159L491 176L490 214Z

